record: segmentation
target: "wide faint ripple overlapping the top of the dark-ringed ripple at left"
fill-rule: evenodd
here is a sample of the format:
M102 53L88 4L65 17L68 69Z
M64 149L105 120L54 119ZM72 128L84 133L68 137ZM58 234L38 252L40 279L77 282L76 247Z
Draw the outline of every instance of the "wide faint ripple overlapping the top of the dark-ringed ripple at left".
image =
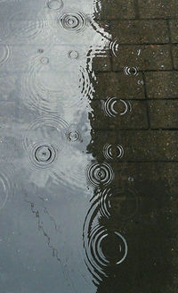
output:
M48 146L49 150L52 152L51 158L53 158L55 155L53 155L54 147L52 146L57 146L58 151L61 150L65 141L65 130L68 127L68 123L57 115L48 114L40 116L29 124L28 130L23 139L23 145L25 149L31 149L30 147L34 146L34 144L37 144L38 147ZM47 145L45 144L46 142L48 142ZM32 147L30 154L33 154L34 156L35 154L41 154L43 148L38 149L38 152L36 153L37 146L35 145ZM46 156L48 156L47 154L49 155L49 152L46 149Z

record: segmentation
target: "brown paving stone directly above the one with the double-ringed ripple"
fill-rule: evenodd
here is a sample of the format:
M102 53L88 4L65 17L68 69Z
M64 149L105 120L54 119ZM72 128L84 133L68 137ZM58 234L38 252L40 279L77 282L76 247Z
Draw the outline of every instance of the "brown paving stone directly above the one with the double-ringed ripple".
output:
M124 72L97 73L94 90L94 98L96 99L107 98L108 96L117 96L117 98L124 99L145 98L142 72L136 76L132 74L127 76Z

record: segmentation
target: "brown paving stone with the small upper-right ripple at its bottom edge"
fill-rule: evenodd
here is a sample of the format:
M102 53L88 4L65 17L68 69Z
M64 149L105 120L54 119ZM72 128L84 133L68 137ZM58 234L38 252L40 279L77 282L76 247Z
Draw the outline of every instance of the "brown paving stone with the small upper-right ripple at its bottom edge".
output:
M172 70L168 45L119 46L117 57L113 57L113 70L136 67L140 71Z

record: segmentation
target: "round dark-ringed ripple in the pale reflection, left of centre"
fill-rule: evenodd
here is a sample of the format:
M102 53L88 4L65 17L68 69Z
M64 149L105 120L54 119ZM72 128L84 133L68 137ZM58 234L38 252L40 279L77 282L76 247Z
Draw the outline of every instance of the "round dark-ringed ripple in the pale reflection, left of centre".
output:
M28 148L28 159L37 169L49 168L56 158L56 148L44 142L38 142Z

